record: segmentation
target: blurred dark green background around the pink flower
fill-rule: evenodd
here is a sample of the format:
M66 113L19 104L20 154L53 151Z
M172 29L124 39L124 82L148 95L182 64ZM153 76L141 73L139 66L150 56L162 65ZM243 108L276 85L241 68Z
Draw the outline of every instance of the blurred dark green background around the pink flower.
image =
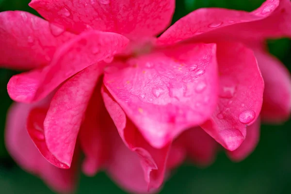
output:
M0 11L25 10L36 14L30 0L0 0ZM251 11L263 0L176 0L174 21L199 7L225 7ZM270 51L291 68L291 41L269 40ZM5 150L5 116L12 100L6 84L17 72L0 69L0 194L52 194L43 182L21 170ZM221 152L216 162L199 169L184 164L172 173L161 194L291 194L291 122L261 127L255 152L240 163L233 163ZM78 194L122 194L106 175L94 178L81 175Z

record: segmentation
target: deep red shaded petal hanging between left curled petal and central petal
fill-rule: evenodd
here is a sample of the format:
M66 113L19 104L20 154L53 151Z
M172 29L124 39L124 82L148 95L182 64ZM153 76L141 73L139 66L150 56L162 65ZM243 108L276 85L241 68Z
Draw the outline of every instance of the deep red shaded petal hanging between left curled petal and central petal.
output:
M94 176L106 164L110 152L108 131L116 130L101 97L101 83L90 99L79 134L85 154L82 171L88 176Z

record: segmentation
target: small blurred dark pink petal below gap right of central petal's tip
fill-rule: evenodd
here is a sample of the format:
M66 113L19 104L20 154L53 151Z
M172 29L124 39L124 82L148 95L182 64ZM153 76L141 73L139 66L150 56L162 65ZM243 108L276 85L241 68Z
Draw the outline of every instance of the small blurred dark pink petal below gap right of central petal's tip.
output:
M175 143L182 145L188 157L200 166L210 165L215 160L218 144L200 127L185 130Z

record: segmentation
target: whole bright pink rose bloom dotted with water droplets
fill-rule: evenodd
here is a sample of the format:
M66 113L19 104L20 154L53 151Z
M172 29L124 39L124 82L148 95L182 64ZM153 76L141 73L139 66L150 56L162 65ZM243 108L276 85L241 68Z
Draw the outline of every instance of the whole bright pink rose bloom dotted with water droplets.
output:
M186 158L209 165L223 146L241 161L261 120L289 118L290 74L265 40L291 37L290 0L198 9L167 30L175 0L29 5L46 20L0 13L0 64L29 70L7 86L6 146L57 192L74 190L80 162L129 192L158 192Z

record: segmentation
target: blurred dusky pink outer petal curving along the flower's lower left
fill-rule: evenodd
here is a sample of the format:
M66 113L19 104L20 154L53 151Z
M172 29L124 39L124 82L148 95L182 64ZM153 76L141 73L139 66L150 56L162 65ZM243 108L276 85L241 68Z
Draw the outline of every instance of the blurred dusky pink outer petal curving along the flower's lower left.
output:
M72 192L76 186L76 168L65 170L51 165L33 145L25 129L26 117L33 106L17 103L11 107L7 117L6 147L24 170L41 177L53 190Z

